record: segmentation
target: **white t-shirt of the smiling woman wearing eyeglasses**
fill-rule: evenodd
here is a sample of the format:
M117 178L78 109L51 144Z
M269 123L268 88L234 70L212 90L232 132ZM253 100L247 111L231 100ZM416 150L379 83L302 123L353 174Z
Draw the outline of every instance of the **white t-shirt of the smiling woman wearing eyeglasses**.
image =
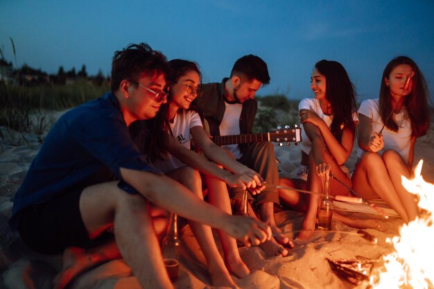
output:
M180 142L181 145L190 149L191 145L191 134L190 129L193 127L202 127L202 122L200 121L200 116L196 111L187 111L181 109L175 115L173 123L170 123L171 131L173 137ZM175 156L168 155L164 156L164 160L156 160L154 166L161 169L164 173L168 171L173 171L178 167L184 167L184 162L181 162Z

